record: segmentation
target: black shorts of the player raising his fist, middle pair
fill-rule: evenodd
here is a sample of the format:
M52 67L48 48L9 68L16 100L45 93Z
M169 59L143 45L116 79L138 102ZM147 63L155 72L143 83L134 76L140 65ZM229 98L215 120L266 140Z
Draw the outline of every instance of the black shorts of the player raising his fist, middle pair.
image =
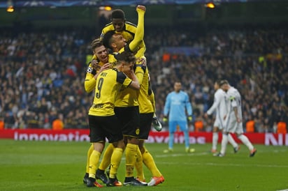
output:
M138 138L139 129L139 107L115 107L114 112L122 125L124 136Z

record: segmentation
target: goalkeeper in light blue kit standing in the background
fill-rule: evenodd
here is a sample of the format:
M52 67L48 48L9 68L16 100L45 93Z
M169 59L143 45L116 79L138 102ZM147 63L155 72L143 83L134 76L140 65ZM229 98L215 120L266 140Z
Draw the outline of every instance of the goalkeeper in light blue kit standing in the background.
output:
M168 118L167 118L168 116ZM174 91L168 93L164 106L164 119L168 121L169 126L169 142L168 149L164 153L173 152L174 133L179 125L180 130L184 133L185 151L187 153L194 152L194 148L189 148L189 130L188 123L192 122L192 106L189 102L187 93L181 90L181 83L175 82Z

